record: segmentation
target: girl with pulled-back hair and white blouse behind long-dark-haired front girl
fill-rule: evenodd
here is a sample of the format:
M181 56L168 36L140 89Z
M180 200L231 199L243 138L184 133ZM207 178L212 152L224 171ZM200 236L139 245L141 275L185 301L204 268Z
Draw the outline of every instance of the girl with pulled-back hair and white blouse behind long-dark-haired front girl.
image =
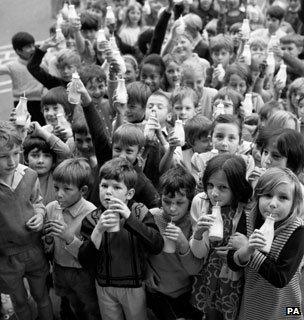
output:
M242 123L235 115L222 114L214 121L211 130L213 150L194 153L191 159L192 170L196 176L203 176L207 162L218 153L237 154L241 145ZM247 165L247 177L254 169L254 160L250 155L241 155Z

